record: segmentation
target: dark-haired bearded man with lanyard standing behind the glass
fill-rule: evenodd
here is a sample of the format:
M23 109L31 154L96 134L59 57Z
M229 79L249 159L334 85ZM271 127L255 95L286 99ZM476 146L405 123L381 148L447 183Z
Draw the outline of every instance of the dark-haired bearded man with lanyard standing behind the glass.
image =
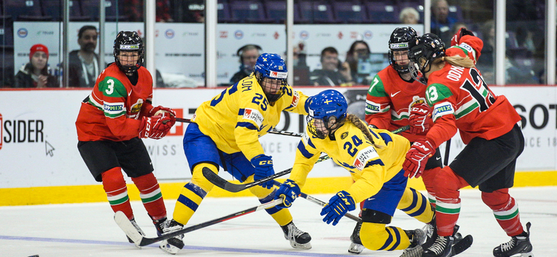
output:
M70 51L68 57L68 86L74 88L93 88L100 74L100 58L97 48L97 28L86 25L79 28L77 43L79 50Z

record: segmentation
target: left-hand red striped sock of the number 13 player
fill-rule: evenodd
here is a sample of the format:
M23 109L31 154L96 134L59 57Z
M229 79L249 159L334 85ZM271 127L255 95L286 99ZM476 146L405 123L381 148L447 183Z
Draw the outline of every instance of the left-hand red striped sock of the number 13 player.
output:
M468 183L446 166L437 172L434 179L434 191L437 199L436 222L437 234L441 236L453 235L453 228L460 215L460 188Z

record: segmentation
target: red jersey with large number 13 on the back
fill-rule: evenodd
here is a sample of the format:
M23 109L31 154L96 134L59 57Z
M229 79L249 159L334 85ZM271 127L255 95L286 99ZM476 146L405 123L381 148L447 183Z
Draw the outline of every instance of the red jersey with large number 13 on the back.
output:
M478 44L479 41L479 44ZM446 50L446 56L471 56L470 51L481 51L479 38L467 36L461 46ZM497 96L489 89L476 68L464 68L446 63L443 69L432 72L427 79L425 94L432 106L434 126L427 133L427 140L439 146L455 135L456 128L464 144L479 137L492 140L508 133L521 119L508 99Z

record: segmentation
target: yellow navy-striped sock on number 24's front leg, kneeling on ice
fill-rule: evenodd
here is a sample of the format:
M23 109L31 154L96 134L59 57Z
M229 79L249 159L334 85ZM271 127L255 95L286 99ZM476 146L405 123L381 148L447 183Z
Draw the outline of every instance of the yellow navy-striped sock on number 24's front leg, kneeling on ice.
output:
M402 229L370 222L361 224L360 240L364 247L372 251L393 251L409 245L408 236Z

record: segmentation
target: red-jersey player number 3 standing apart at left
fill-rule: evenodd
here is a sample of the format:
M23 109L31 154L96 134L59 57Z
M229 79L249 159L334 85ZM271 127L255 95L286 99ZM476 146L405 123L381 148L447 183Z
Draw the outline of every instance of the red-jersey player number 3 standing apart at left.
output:
M75 122L77 148L95 180L102 182L112 210L125 213L144 234L134 221L122 170L130 176L160 235L168 226L166 208L141 138L163 138L175 123L175 113L152 106L152 76L141 66L143 42L135 31L118 33L114 60L81 103Z

